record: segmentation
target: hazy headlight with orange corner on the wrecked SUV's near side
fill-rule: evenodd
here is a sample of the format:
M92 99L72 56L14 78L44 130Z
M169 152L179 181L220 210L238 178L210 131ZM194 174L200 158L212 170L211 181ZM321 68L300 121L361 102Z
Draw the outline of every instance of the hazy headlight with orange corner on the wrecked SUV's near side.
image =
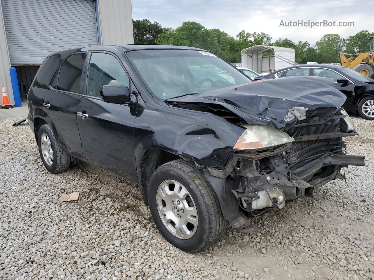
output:
M234 145L234 150L261 150L295 141L283 131L268 125L245 124L246 130Z

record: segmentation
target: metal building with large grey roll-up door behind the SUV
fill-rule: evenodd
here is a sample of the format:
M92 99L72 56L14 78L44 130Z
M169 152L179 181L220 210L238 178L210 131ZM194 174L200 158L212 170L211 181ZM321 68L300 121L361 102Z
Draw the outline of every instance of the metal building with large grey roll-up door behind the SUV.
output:
M131 0L0 2L0 84L13 104L10 66L25 100L47 55L97 44L134 44Z

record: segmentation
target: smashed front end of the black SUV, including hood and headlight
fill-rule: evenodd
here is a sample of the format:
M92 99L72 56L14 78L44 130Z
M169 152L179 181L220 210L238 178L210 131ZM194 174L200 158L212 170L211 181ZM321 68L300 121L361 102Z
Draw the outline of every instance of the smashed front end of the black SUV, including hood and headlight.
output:
M225 167L197 161L220 200L226 220L250 231L248 217L282 209L337 178L341 169L365 165L347 155L343 137L356 136L342 109L346 96L334 80L287 77L167 100L169 106L210 113L245 130ZM223 157L221 157L223 158ZM221 165L223 166L223 165Z

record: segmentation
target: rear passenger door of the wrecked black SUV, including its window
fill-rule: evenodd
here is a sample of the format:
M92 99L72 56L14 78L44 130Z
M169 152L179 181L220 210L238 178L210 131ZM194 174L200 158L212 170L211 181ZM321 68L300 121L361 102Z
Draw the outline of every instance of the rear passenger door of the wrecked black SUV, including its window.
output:
M43 98L57 143L67 153L82 158L76 109L82 94L82 71L87 53L68 56L56 72Z

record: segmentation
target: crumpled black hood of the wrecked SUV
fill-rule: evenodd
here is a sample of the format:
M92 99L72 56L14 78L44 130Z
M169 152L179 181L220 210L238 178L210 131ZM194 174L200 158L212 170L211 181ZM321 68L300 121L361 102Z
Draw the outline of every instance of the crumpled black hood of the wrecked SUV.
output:
M341 108L346 96L330 78L304 76L261 80L166 100L169 104L221 105L248 124L283 128L298 119Z

